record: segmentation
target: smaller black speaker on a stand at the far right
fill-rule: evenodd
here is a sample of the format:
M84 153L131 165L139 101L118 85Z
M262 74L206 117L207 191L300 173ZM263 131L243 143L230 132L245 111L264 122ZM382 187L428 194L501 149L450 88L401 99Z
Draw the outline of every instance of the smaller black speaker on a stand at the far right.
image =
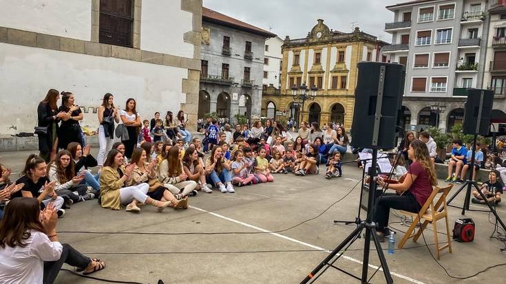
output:
M483 100L481 94L483 92ZM487 89L467 89L467 101L465 102L464 121L462 130L464 134L488 135L494 91ZM481 113L480 112L481 105ZM480 125L476 131L476 124L480 118Z

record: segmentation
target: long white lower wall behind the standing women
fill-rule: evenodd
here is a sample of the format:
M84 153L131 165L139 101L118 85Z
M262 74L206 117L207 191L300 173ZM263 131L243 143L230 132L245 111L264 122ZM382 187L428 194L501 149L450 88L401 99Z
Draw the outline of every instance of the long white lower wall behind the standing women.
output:
M178 111L185 102L187 69L6 43L0 43L0 63L1 134L32 132L37 105L50 88L72 91L82 107L98 107L107 92L122 108L136 98L142 119ZM98 126L96 113L85 113L86 124Z

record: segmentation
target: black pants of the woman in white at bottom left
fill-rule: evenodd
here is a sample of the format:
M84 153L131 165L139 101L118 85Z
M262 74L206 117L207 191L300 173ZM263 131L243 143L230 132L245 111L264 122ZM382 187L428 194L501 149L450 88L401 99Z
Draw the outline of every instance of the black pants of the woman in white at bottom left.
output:
M78 252L72 248L68 243L62 243L63 250L61 251L60 259L57 261L44 261L44 284L52 284L58 276L63 263L68 265L86 269L89 263L92 261L89 257L84 256L81 252Z

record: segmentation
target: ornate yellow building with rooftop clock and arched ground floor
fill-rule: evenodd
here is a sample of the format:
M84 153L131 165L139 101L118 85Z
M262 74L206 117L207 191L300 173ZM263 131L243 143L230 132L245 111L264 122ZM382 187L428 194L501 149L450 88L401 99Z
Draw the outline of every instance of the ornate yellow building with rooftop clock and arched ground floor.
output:
M282 45L281 89L264 87L262 116L276 119L282 116L286 120L297 120L299 116L299 121L339 122L350 127L357 63L386 61L378 58L379 49L386 44L359 28L350 33L330 30L322 19L318 19L304 39L286 36ZM292 96L293 85L299 87L302 83L318 89L315 100L307 100L304 107L297 106Z

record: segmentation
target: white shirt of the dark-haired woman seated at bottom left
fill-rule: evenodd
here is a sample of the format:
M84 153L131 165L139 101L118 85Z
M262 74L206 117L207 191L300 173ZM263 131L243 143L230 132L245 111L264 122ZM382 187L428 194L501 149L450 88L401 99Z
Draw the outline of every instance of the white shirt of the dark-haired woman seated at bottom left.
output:
M24 248L0 247L0 283L41 284L44 276L44 261L60 259L63 247L50 241L43 232L30 231Z

